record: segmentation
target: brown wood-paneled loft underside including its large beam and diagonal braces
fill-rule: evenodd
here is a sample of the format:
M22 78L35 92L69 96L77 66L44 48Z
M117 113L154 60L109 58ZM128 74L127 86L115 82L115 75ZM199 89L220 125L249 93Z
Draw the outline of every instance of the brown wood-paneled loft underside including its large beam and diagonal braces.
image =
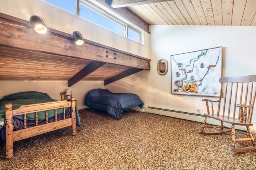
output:
M29 21L0 14L1 80L104 80L109 84L141 70L150 59L84 39L78 46L72 35L48 28L44 35Z

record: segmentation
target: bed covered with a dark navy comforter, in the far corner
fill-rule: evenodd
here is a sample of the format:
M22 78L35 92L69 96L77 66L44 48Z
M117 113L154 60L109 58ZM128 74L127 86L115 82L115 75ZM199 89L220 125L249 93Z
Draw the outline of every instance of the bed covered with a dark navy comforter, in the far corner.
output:
M136 94L112 93L109 90L98 88L86 94L84 105L91 109L106 111L119 120L125 109L132 106L139 106L143 109L144 103Z

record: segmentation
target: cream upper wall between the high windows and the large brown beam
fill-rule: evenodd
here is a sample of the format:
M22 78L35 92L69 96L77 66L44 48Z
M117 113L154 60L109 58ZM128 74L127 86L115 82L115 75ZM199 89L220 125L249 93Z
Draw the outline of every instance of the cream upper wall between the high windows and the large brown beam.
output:
M32 15L37 15L44 20L47 27L69 34L78 30L84 39L150 58L150 34L145 31L144 45L140 45L43 0L0 0L0 3L1 13L27 21Z

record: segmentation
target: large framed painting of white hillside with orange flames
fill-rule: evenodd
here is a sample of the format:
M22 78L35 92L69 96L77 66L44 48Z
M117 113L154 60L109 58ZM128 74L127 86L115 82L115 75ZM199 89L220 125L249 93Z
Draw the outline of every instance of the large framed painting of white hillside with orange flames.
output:
M222 47L171 56L171 93L219 97Z

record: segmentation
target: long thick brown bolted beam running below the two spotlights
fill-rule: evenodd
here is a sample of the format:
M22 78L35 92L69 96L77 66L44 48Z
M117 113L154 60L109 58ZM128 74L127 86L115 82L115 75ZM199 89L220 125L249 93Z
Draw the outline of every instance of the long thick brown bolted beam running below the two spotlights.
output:
M50 28L48 28L47 33L38 34L33 27L16 26L20 23L30 26L30 22L0 14L0 46L2 47L150 70L150 59L86 39L84 39L85 43L83 45L78 46L74 43L72 35Z

